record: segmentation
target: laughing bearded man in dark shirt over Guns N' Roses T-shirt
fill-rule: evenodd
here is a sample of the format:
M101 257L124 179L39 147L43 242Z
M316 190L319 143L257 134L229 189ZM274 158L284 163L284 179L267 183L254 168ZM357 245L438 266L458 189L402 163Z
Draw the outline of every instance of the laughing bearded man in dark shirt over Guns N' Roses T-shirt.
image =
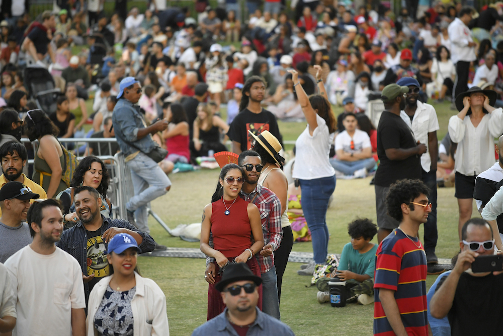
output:
M105 244L113 236L118 233L130 234L138 243L141 253L153 251L155 243L149 234L139 231L128 221L103 217L100 214L103 200L95 188L75 188L73 201L80 221L63 232L57 245L77 259L80 265L87 306L94 285L110 275Z

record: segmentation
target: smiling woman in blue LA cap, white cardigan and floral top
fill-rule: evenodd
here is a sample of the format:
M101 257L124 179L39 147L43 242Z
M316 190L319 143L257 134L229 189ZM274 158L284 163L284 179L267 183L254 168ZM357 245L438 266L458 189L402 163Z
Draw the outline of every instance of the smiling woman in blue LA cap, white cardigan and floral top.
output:
M133 236L119 233L108 243L110 276L89 295L87 335L167 335L166 297L137 270L140 249Z

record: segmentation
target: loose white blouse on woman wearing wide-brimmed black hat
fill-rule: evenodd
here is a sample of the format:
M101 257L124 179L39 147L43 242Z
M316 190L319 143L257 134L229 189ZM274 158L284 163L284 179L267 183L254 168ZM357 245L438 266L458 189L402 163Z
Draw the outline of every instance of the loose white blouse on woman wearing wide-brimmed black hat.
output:
M449 119L449 136L458 144L454 170L466 176L478 175L489 169L494 162L494 138L503 133L503 109L497 108L485 114L477 127L470 116Z

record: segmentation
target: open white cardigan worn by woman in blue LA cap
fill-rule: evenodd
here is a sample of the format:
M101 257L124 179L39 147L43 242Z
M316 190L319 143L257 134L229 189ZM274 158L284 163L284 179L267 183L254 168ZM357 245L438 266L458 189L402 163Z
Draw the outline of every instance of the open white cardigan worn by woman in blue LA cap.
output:
M133 312L133 335L169 336L170 329L167 324L166 297L159 286L151 279L143 278L136 272L136 292L131 300L131 310ZM105 277L100 280L89 295L88 317L86 319L86 329L88 336L97 336L94 328L94 317L108 284L112 277Z

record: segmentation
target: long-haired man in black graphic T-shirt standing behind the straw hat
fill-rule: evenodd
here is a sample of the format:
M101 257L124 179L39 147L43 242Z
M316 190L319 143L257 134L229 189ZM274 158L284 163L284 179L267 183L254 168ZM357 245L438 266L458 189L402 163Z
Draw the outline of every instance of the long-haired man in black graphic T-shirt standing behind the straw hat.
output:
M239 104L239 113L232 120L227 136L232 140L232 152L240 154L251 148L254 138L249 132L257 137L268 130L282 142L280 129L273 113L265 110L261 102L266 94L266 84L259 76L251 76L246 80L242 89L243 97Z

